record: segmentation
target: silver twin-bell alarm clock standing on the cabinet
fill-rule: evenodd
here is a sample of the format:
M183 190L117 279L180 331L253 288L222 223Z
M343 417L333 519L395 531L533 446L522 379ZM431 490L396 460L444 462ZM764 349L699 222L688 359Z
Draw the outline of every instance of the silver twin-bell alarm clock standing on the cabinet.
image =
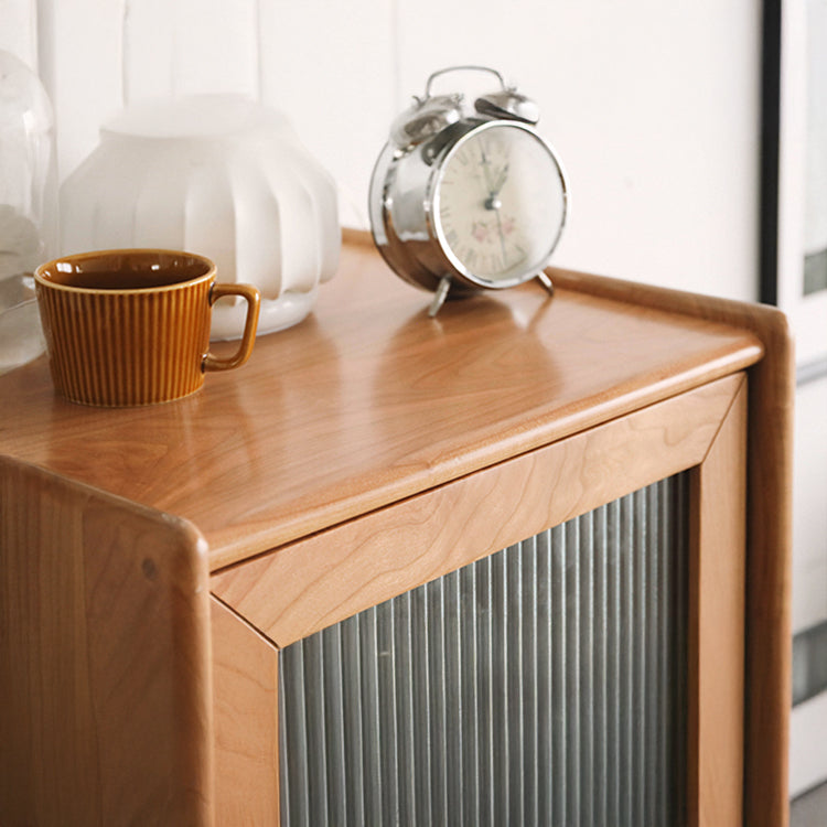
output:
M432 95L445 73L493 74L500 88L469 106ZM568 185L555 150L536 131L537 106L487 66L434 72L425 96L391 125L368 194L370 230L394 272L447 298L539 279L566 224Z

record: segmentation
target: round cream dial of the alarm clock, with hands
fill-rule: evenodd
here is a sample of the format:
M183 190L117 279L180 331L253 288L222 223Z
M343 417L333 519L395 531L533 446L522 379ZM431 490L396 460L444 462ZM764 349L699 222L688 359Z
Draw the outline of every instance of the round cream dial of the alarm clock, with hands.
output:
M562 230L566 187L551 150L519 123L491 121L447 155L432 224L451 265L483 287L536 276Z

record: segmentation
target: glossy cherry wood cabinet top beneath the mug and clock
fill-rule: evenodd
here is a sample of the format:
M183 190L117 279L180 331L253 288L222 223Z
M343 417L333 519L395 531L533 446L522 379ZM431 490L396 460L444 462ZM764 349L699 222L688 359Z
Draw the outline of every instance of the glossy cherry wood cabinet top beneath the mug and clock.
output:
M0 452L191 520L217 569L764 352L749 326L550 272L552 298L531 282L429 319L429 296L356 236L304 322L259 337L246 366L211 374L190 398L74 405L45 357L0 376Z

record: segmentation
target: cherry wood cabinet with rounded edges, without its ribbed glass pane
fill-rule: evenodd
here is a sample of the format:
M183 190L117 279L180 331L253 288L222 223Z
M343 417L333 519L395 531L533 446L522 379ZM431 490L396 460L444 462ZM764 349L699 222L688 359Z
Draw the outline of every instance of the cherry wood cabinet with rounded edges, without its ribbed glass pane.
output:
M187 399L0 377L0 821L277 823L281 647L687 472L687 820L785 824L784 318L551 270L429 319L346 241Z

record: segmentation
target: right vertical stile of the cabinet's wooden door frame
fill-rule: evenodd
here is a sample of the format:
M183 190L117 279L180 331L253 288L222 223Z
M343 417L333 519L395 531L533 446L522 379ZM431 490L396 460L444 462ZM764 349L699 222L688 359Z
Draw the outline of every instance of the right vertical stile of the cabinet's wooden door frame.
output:
M691 476L690 827L742 827L744 769L747 386Z

